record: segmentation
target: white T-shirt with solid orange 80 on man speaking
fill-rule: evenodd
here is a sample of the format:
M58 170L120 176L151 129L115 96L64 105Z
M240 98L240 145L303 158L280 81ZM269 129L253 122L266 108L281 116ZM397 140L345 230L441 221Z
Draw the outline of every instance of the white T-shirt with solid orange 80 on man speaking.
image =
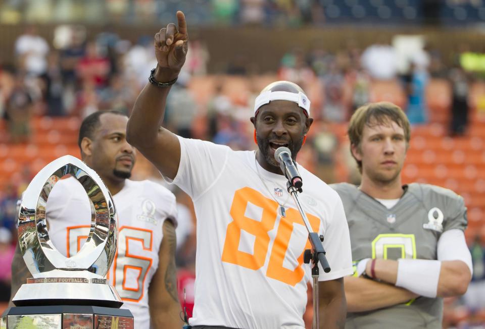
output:
M254 151L179 140L180 166L173 183L190 195L197 215L196 296L190 324L303 329L311 280L303 252L310 243L286 179L257 165ZM298 168L303 179L300 201L312 229L324 235L331 267L329 273L320 270L320 280L350 275L342 201L320 179ZM275 200L284 205L284 217Z

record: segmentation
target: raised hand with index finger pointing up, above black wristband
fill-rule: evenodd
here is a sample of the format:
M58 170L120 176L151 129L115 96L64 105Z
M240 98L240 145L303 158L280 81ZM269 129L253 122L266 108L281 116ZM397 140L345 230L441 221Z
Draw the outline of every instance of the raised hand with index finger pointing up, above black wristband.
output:
M178 29L170 23L155 34L155 55L157 57L157 81L166 82L178 76L185 62L188 50L188 33L185 15L177 12ZM160 80L161 79L161 80Z

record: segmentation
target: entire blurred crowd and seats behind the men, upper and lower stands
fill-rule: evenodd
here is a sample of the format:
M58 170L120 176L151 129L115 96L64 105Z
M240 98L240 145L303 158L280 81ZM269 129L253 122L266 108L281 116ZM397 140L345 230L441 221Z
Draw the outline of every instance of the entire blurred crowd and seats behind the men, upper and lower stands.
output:
M350 20L460 25L485 20L481 0L0 1L1 23L64 23L52 39L37 34L34 24L26 25L9 50L12 60L0 58L0 267L10 267L16 202L33 175L61 155L79 156L77 129L86 115L106 109L129 115L156 65L152 36L131 43L109 28L88 38L89 23L105 18L134 24L167 22L177 9L196 25L276 27ZM65 24L71 21L86 25ZM402 106L413 124L405 182L452 188L464 196L469 211L466 236L474 262L473 282L464 298L447 299L444 327L485 327L485 48L463 43L453 58L445 59L422 37L388 40L377 33L374 43L365 47L349 39L338 51L321 44L310 48L288 48L278 59L278 71L263 75L255 74L253 60L244 57L231 59L223 71L210 72L208 46L201 40L190 42L184 71L169 95L164 124L184 137L252 149L249 117L254 98L275 79L294 81L310 96L317 120L299 161L328 183L357 183L345 136L347 120L369 101L389 100ZM141 156L133 178L164 184ZM187 288L190 306L195 217L190 199L181 191L174 193L180 216L180 285ZM4 301L9 296L9 276L10 271L0 272Z

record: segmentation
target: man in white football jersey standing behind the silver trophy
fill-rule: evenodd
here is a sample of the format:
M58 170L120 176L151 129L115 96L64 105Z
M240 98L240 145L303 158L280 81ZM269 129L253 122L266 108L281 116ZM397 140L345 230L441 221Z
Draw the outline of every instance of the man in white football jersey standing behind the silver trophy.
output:
M176 290L175 196L151 181L131 181L135 149L126 141L128 118L116 111L86 117L79 130L82 160L100 175L115 202L118 249L107 278L135 328L182 325ZM73 177L56 183L47 199L49 236L67 256L76 254L89 234L91 210L86 192ZM12 265L12 296L30 273L17 248ZM18 273L21 275L18 275Z

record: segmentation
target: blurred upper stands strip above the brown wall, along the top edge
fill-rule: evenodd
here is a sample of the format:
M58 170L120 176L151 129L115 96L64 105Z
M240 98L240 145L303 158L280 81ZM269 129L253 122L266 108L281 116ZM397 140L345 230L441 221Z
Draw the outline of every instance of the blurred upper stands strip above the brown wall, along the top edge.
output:
M325 23L469 25L485 20L481 0L3 0L0 21L167 21L182 10L197 25Z

